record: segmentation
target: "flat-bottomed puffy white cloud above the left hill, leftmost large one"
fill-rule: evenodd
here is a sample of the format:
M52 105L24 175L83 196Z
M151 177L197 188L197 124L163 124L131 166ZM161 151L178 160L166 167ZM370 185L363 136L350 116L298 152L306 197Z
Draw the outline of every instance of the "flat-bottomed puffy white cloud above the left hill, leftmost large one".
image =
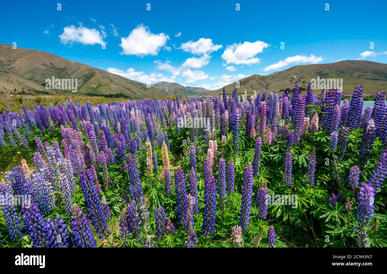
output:
M63 33L58 36L60 43L73 44L80 43L83 45L102 44L103 37L97 29L88 29L80 24L79 27L74 25L63 28Z

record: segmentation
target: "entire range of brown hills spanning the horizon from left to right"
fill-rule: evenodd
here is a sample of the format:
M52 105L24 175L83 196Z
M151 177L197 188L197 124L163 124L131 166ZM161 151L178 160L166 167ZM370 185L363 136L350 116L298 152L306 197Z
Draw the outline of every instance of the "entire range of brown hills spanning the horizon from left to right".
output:
M34 49L17 48L0 44L0 93L65 93L69 90L47 90L46 79L77 78L80 95L103 95L132 99L162 98L180 94L182 97L221 94L218 90L202 87L184 87L178 83L158 82L146 85L128 78L70 61L60 56ZM364 94L375 95L387 87L387 64L372 61L339 61L328 64L293 66L269 75L253 74L239 80L239 93L244 90L252 94L254 90L281 90L298 84L306 88L312 79L342 79L344 94L351 94L356 85L363 85ZM231 94L235 83L226 86Z

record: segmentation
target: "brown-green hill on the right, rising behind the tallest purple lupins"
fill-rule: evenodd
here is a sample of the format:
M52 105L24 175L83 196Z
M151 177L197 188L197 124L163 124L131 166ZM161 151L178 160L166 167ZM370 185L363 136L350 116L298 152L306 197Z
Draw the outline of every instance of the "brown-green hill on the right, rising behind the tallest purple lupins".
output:
M253 74L239 80L238 93L245 90L252 94L254 90L280 90L293 88L295 84L307 88L312 79L342 79L343 93L351 94L356 85L362 85L364 94L377 94L387 87L387 64L372 61L354 60L339 61L328 64L313 64L293 66L283 71L276 71L269 75ZM235 83L226 86L226 94L231 94ZM222 88L207 95L221 94Z

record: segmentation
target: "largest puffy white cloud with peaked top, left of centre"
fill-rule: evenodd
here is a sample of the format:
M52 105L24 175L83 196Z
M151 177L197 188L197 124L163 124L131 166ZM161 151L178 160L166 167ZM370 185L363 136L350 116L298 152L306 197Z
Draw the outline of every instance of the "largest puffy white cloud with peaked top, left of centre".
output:
M156 56L168 39L170 37L163 32L153 34L147 26L141 24L131 31L128 37L121 37L121 54Z

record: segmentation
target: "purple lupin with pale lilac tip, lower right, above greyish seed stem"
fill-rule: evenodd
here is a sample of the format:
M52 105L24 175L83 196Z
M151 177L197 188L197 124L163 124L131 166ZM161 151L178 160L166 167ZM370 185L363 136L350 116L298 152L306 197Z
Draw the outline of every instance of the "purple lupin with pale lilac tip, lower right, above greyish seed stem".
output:
M359 196L358 196L358 210L356 216L358 216L358 222L368 227L368 222L372 220L374 214L373 202L375 200L375 190L372 184L366 182L361 183Z

